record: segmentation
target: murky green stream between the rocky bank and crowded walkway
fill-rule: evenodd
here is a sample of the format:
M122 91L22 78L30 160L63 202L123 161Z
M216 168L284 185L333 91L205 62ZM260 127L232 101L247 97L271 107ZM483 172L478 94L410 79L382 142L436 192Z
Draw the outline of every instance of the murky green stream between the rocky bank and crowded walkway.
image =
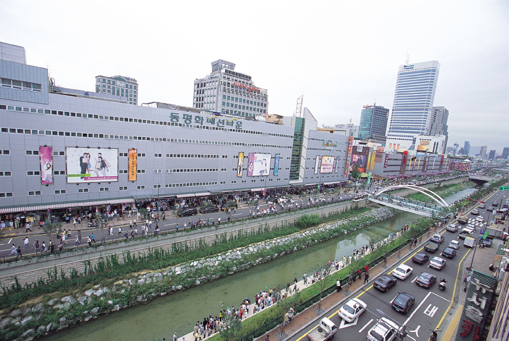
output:
M472 193L466 189L444 198L452 203ZM354 249L387 237L420 216L403 212L385 221L334 238L307 249L285 255L248 270L206 283L202 286L158 297L147 304L121 309L119 312L65 329L44 337L43 341L152 341L173 333L179 337L190 332L196 321L209 314L217 316L220 309L238 306L245 297L277 285L285 287L294 277L300 281L304 272L310 273L316 265L352 254ZM221 303L224 306L221 307ZM192 341L192 340L187 340Z

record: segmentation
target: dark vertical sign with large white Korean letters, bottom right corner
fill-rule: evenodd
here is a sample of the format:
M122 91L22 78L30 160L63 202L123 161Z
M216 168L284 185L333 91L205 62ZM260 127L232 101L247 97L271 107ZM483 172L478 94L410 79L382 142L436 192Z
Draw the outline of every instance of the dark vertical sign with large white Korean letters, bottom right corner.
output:
M497 287L493 276L474 270L467 282L467 295L456 341L476 341L483 339L483 332L491 310L491 303Z

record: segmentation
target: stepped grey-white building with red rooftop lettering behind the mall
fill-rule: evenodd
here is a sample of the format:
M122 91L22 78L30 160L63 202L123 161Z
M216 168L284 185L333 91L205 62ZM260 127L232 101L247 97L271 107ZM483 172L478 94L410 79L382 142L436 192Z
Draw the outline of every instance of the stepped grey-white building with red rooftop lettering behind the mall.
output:
M236 72L235 64L218 59L210 75L194 80L193 107L239 116L268 110L267 90L254 86L251 76Z

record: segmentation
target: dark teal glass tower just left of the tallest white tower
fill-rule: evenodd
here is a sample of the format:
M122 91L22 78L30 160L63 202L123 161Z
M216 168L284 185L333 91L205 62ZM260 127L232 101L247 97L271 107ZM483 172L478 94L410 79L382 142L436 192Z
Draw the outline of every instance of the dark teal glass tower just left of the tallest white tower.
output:
M389 109L379 105L365 105L360 112L358 137L385 144Z

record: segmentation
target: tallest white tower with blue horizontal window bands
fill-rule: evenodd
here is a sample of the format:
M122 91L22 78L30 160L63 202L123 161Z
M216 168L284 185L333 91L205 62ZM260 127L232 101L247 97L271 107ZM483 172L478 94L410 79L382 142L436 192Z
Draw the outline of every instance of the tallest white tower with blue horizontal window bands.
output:
M386 145L405 149L415 136L431 135L439 69L437 60L400 66Z

